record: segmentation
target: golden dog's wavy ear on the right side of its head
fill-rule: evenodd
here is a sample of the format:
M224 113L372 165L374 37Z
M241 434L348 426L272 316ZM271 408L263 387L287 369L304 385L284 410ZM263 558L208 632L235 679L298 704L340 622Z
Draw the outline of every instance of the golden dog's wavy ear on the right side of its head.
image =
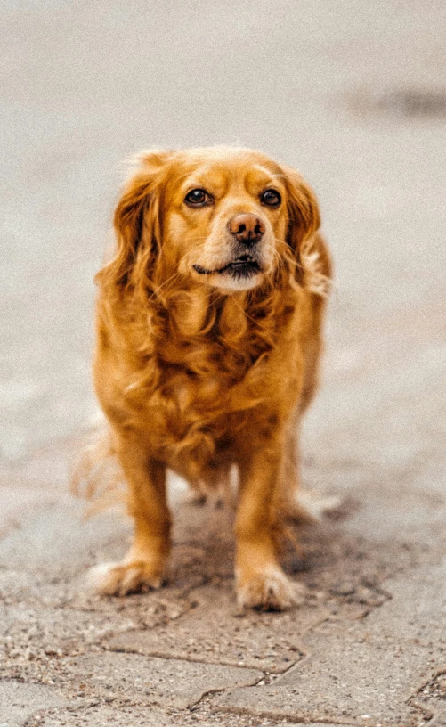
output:
M320 212L316 196L303 177L282 166L288 190L288 248L296 263L296 280L319 295L328 292L328 260L321 258Z

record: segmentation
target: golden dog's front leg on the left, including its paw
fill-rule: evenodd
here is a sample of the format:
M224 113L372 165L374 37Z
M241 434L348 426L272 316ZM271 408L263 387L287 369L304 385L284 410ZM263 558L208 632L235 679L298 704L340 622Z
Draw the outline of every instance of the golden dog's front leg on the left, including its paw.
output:
M170 513L166 503L166 467L150 459L138 441L121 439L118 457L129 487L134 542L120 563L93 568L91 580L107 595L159 588L170 552Z

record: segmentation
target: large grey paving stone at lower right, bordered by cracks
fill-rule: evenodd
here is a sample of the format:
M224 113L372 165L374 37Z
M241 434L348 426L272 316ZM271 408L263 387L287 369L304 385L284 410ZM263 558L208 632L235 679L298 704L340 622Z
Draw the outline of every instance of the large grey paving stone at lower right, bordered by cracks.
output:
M302 639L308 654L271 685L217 703L302 720L419 723L414 685L446 670L444 564L385 584L393 599L360 622L325 622Z

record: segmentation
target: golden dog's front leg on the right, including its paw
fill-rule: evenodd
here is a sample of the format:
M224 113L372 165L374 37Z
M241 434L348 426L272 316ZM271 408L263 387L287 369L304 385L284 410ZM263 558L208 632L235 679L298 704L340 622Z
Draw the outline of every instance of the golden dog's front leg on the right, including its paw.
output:
M259 446L239 464L235 572L240 606L282 610L298 602L296 585L280 567L273 537L272 503L281 458L281 451Z

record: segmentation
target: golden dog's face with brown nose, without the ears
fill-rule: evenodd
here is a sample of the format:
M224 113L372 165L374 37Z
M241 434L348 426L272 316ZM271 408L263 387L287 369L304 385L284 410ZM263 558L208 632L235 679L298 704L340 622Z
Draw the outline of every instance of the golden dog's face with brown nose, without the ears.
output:
M285 243L287 188L280 167L255 152L191 152L166 185L165 242L179 270L222 290L271 274Z

